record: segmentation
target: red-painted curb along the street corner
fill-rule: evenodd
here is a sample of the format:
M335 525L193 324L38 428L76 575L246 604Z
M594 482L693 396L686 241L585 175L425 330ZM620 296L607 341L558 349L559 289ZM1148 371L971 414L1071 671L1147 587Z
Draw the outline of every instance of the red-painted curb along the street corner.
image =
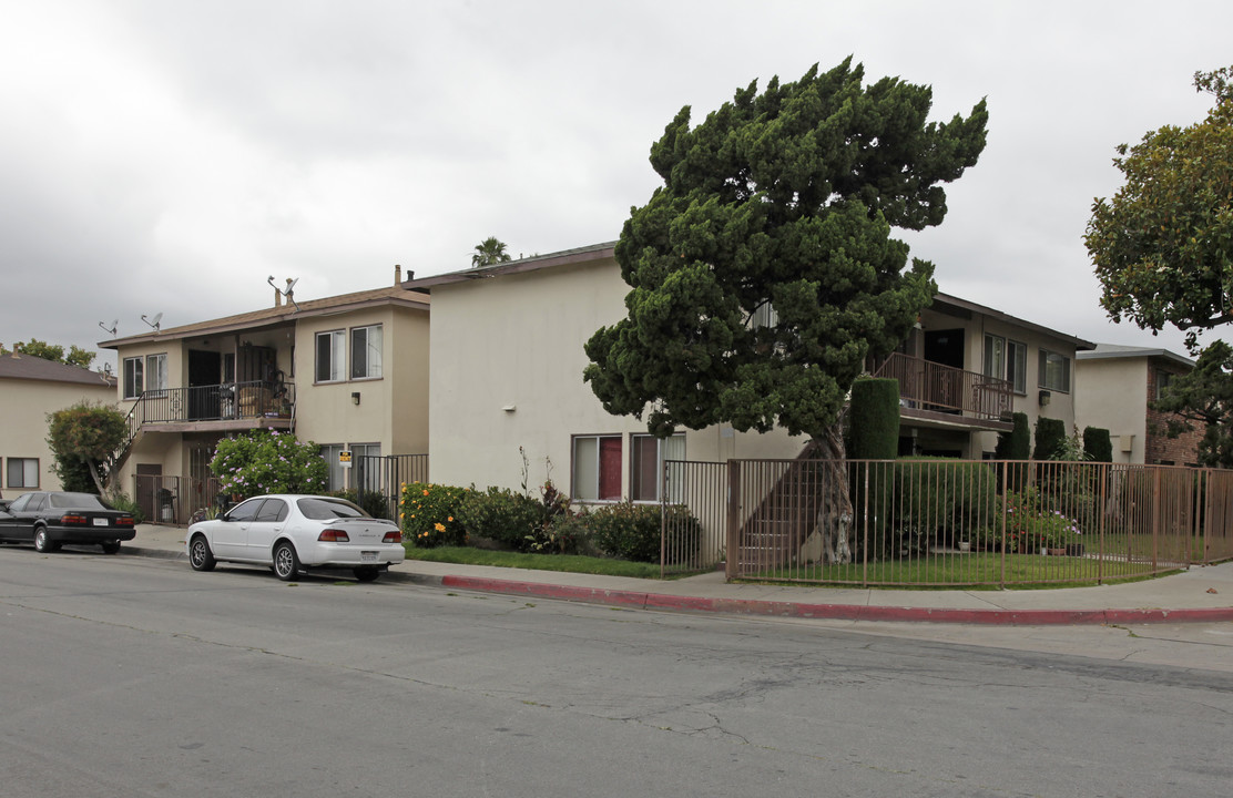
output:
M444 576L441 577L441 586L487 593L535 596L538 598L557 598L594 604L637 607L641 609L719 612L774 615L779 618L826 618L831 620L905 620L1020 627L1113 623L1213 623L1233 620L1233 607L1202 609L946 609L926 607L869 607L863 604L804 604L742 598L667 596L641 591L572 587L476 576Z

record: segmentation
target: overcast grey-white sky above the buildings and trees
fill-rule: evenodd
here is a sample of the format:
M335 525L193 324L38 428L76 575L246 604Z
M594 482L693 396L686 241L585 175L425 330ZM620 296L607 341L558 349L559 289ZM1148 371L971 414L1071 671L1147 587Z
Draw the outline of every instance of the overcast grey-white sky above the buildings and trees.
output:
M904 236L942 291L1090 340L1083 245L1111 159L1203 117L1233 2L0 0L0 342L145 332L615 239L651 143L737 86L848 54L989 101L944 223Z

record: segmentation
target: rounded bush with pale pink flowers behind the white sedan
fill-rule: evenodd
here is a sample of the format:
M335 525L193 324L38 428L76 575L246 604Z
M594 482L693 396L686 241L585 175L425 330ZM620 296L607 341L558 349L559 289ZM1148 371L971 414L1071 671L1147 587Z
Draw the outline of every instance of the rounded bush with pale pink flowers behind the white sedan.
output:
M224 438L215 448L210 470L222 492L240 498L260 493L322 493L329 471L317 444L291 433L250 432Z

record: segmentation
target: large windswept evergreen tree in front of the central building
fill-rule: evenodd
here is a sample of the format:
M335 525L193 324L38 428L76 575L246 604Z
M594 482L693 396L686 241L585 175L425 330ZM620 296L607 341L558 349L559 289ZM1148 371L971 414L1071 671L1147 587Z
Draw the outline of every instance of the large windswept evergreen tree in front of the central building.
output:
M629 313L586 345L608 412L646 413L660 435L779 426L842 458L852 381L936 291L890 231L942 221L938 184L975 164L988 120L981 101L927 122L928 86L866 86L851 62L755 81L697 126L686 106L651 147L663 186L616 244Z

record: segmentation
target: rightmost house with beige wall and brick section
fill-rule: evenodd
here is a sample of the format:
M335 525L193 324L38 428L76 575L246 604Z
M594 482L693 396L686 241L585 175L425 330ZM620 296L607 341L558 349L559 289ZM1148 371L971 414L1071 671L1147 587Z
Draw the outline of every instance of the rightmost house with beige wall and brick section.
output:
M1113 463L1195 465L1202 430L1169 438L1170 414L1154 411L1170 380L1189 374L1195 361L1168 349L1099 344L1079 353L1079 424L1107 429Z

